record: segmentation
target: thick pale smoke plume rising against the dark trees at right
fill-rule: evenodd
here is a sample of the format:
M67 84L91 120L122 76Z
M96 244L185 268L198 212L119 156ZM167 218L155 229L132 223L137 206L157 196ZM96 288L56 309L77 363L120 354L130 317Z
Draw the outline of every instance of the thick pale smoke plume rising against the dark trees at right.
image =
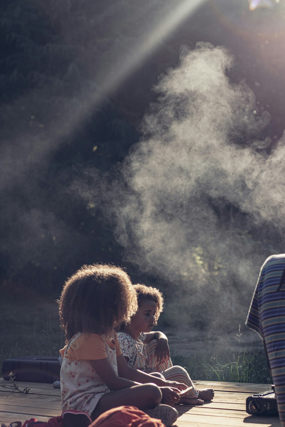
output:
M284 140L262 138L270 115L234 65L225 47L182 47L108 193L126 260L169 284L176 324L238 327L284 241Z

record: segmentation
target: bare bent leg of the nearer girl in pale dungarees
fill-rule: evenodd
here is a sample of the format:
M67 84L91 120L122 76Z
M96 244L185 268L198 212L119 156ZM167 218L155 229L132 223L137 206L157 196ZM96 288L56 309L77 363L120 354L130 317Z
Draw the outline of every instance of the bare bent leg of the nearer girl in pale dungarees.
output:
M118 406L135 406L138 409L151 409L160 404L162 392L155 384L142 384L127 389L105 393L91 414L94 421L100 414Z

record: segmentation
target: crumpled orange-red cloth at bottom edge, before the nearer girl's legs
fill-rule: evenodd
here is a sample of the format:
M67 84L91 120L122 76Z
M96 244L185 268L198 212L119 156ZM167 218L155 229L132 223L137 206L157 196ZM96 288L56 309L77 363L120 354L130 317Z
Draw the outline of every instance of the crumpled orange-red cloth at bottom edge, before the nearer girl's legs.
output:
M119 406L103 412L89 427L165 427L165 424L134 406Z

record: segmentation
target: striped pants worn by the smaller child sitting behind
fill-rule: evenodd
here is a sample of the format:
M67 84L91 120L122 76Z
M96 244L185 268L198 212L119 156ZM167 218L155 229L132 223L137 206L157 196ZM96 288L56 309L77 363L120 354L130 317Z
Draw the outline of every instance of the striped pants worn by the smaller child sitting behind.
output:
M167 381L176 381L177 383L183 383L187 387L192 386L193 389L187 392L184 397L197 398L199 390L194 386L186 369L182 368L182 366L173 366L171 359L162 364L159 364L157 362L157 357L154 354L157 343L158 341L156 339L153 339L153 341L150 341L149 344L144 345L144 349L147 353L147 365L155 369L156 372L160 372Z

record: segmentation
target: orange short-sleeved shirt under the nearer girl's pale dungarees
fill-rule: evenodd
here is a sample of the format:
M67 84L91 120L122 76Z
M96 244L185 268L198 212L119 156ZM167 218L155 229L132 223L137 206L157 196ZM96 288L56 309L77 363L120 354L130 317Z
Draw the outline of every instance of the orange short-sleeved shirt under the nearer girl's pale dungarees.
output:
M106 337L106 342L112 350L114 348L116 349L116 356L120 356L122 352L115 330L114 335L115 341ZM106 359L107 357L106 343L103 337L97 333L82 333L78 338L71 342L66 354L65 348L62 348L59 352L62 355L62 358L67 357L68 360L99 360Z

